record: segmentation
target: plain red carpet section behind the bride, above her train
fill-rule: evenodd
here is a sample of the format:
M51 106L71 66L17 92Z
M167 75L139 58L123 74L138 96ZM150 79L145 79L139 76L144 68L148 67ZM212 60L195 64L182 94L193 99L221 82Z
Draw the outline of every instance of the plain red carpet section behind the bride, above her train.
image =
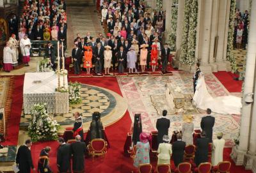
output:
M230 93L240 93L242 89L243 81L234 80L234 77L237 77L234 73L227 71L218 71L213 73L221 84L227 88Z

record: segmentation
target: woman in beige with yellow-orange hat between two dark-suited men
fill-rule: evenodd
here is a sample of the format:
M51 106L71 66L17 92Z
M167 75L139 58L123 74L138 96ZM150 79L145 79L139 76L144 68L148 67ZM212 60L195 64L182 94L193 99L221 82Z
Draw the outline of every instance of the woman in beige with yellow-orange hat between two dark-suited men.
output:
M193 132L194 124L193 116L186 115L183 119L184 123L182 124L182 141L186 142L186 145L193 145Z

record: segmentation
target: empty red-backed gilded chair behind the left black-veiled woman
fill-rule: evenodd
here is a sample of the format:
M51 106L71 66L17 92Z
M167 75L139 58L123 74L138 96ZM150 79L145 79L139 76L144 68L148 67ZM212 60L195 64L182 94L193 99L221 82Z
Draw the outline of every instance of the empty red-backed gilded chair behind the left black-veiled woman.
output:
M107 153L108 143L104 139L93 139L88 144L88 152L92 155L92 161L94 161L94 156L105 156Z

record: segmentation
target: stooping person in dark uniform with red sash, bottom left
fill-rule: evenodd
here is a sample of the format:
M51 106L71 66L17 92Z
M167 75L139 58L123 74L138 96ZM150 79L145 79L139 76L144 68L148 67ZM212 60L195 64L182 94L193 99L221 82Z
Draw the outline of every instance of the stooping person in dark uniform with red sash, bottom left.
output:
M49 151L51 151L51 147L45 147L41 150L38 160L38 170L40 171L40 173L52 172L49 165Z

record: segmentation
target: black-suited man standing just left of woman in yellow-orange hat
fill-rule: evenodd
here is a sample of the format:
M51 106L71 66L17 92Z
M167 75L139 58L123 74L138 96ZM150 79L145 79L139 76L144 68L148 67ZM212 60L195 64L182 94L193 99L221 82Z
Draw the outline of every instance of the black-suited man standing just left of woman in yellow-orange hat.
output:
M163 135L168 135L168 129L170 128L170 119L166 118L167 110L163 110L163 116L156 121L156 128L158 131L157 143L158 145L163 143Z

